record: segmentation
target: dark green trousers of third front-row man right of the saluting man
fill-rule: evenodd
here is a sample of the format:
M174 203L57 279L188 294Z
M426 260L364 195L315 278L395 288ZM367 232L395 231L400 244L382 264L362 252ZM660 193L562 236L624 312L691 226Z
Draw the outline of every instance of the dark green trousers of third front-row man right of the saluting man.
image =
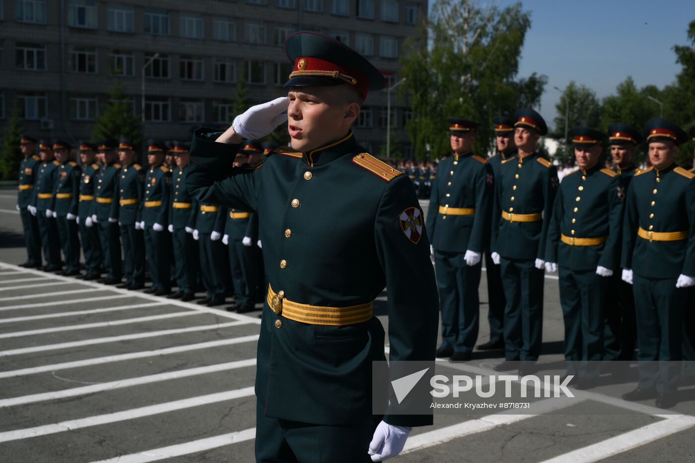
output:
M608 277L596 270L572 271L557 267L564 318L567 373L594 378L603 357L603 302Z

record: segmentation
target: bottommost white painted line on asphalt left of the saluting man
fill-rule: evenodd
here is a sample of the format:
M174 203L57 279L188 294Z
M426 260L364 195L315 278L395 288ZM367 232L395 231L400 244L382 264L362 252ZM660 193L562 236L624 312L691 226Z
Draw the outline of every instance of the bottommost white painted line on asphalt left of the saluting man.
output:
M109 458L108 460L100 460L94 463L147 463L164 460L165 458L179 457L181 455L190 455L191 453L204 452L213 448L229 446L238 442L250 441L256 437L256 428L249 428L243 431L229 432L215 437L207 437L206 439L198 439L197 441L186 442L186 444L177 444L173 446L154 448L145 450L144 452L131 453L130 455L121 455L120 457Z

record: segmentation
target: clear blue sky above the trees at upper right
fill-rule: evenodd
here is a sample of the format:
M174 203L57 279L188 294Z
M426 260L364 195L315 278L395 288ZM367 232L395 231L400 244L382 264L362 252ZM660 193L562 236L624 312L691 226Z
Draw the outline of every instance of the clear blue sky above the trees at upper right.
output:
M486 0L480 0L486 4ZM516 3L493 0L500 7ZM434 3L430 0L430 3ZM522 0L531 12L519 76L546 74L540 113L555 127L555 104L570 81L605 97L632 76L638 88L672 83L680 71L674 44L688 44L695 0Z

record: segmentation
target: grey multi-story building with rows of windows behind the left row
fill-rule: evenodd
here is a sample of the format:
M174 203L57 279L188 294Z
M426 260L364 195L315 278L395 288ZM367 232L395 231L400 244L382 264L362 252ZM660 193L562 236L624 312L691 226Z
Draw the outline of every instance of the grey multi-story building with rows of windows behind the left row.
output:
M426 12L427 0L0 0L0 131L17 105L28 132L90 138L117 79L133 115L144 107L145 138L189 138L234 117L240 76L254 103L286 92L283 44L294 31L341 40L393 84L402 43ZM409 111L393 94L409 154ZM355 124L368 149L386 140L386 97L371 94Z

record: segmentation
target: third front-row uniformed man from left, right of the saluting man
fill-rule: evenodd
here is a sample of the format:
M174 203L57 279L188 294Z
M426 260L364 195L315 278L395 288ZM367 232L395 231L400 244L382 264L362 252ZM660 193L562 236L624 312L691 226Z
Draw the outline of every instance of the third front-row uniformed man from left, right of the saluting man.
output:
M603 307L620 263L623 200L620 176L601 168L605 135L588 127L569 132L578 169L559 186L548 228L546 270L558 271L567 374L591 387L603 357Z

